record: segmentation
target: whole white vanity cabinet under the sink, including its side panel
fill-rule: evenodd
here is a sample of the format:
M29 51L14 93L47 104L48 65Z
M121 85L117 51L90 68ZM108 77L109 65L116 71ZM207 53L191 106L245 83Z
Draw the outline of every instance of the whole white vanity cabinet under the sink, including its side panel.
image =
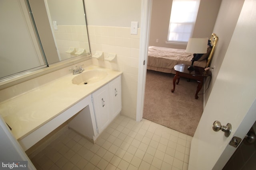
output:
M83 109L76 112L69 127L94 142L121 111L121 76L96 90L82 103Z

